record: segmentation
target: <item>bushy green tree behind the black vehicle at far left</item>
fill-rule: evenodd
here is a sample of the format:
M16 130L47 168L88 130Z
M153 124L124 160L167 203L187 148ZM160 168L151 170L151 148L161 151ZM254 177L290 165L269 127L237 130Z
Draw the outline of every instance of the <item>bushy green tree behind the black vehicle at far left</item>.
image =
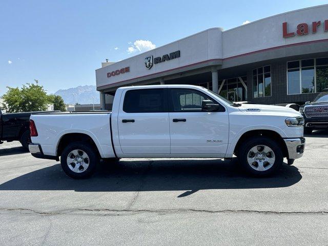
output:
M22 88L7 87L8 91L2 96L4 103L3 109L8 113L45 111L47 104L50 103L43 86L35 84L25 84Z

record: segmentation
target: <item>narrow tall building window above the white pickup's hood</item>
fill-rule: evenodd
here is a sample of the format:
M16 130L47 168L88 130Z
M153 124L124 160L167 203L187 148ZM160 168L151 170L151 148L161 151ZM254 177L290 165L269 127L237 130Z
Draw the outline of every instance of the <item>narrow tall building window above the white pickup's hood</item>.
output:
M253 69L253 97L271 96L271 66Z

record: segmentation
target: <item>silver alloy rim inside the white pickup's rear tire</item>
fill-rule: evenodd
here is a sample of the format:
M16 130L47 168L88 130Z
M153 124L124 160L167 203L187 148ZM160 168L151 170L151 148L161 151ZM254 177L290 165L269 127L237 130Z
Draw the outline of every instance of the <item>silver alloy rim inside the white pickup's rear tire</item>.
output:
M67 165L75 173L83 173L89 167L89 156L83 150L72 150L67 156Z

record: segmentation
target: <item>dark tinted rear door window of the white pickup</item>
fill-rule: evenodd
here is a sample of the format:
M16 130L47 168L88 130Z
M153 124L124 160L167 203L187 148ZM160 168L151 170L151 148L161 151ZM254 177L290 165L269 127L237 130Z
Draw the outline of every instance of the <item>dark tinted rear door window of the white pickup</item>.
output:
M164 112L163 89L130 90L125 93L123 111L126 113Z

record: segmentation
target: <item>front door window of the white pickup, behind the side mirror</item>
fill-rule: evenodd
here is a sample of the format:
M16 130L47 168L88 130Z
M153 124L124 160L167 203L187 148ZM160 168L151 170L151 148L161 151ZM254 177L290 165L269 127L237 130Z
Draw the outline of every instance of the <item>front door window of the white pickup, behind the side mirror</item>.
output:
M173 112L201 112L203 100L213 101L206 94L190 89L171 89L171 98Z

